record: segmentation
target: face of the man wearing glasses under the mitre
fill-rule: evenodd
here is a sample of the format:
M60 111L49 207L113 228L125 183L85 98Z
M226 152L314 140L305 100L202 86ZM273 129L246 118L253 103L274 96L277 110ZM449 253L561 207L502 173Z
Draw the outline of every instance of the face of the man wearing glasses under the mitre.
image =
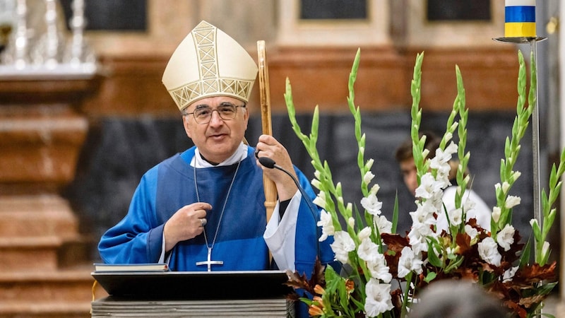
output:
M225 105L237 106L234 118L222 119L220 117L219 110ZM249 121L249 113L246 108L241 107L242 105L244 105L244 102L237 98L216 96L197 100L184 109L183 113L186 115L182 117L182 122L186 135L192 139L201 155L211 163L221 163L230 158L230 155L237 150L237 147L243 141ZM206 110L208 114L211 112L210 122L201 124L196 122L194 112L201 110ZM224 114L222 116L226 117ZM206 120L199 121L206 122Z

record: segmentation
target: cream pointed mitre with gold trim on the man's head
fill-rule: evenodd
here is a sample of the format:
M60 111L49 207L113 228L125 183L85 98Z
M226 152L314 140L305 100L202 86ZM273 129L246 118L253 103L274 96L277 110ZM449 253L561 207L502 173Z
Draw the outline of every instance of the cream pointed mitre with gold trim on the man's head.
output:
M257 64L230 35L206 21L174 50L162 82L183 110L201 98L227 95L249 101Z

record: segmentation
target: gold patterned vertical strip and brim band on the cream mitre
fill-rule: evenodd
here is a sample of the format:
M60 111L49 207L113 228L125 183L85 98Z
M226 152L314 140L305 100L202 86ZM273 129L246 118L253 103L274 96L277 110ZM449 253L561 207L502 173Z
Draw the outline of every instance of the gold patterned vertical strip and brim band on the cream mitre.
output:
M216 47L217 30L213 25L203 21L192 31L196 57L198 57L199 79L169 90L181 110L194 100L207 95L226 94L242 100L249 99L254 81L220 76Z

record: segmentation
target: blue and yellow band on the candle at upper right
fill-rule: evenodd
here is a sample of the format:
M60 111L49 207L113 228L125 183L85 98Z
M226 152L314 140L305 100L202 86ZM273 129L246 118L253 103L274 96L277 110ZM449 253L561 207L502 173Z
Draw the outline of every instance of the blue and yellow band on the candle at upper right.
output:
M506 0L505 37L535 37L535 0Z

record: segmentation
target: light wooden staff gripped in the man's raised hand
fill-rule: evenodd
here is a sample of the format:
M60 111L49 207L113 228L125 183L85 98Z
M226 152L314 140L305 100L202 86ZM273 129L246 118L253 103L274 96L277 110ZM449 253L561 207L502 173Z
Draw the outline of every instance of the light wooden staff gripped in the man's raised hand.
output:
M257 41L257 56L259 62L259 98L261 100L261 126L263 134L273 135L273 126L270 120L270 91L269 73L267 67L267 52L265 41ZM267 222L273 215L277 204L277 187L273 180L263 173L263 187L265 189L265 208L267 210Z

